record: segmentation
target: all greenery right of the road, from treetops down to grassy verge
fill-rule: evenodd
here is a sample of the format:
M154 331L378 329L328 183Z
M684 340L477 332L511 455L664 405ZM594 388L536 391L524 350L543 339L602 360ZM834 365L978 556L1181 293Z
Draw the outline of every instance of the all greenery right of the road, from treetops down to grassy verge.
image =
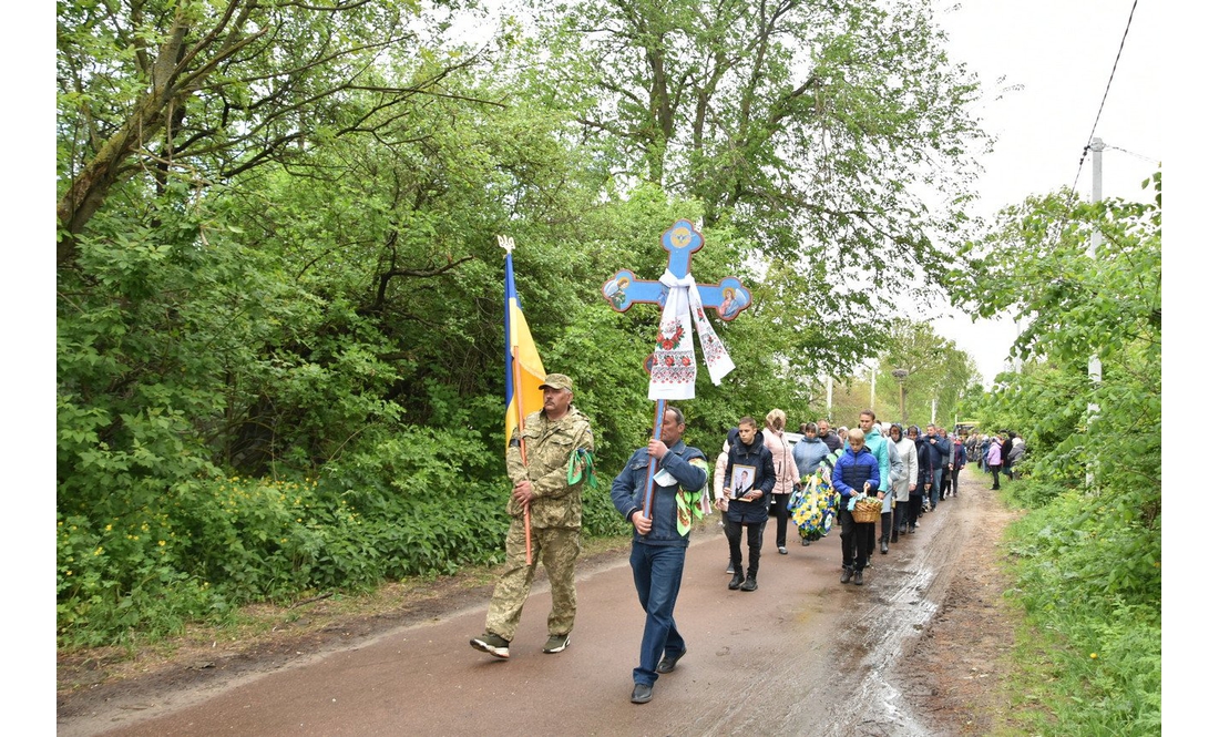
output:
M1037 728L1054 735L1160 725L1159 174L1151 182L1152 205L1030 199L967 244L952 277L979 314L1011 309L1028 325L1020 370L970 401L984 429L1026 440L1025 478L1006 487L1031 509L1011 530L1012 596L1047 643L1052 677L1029 680L1054 714Z

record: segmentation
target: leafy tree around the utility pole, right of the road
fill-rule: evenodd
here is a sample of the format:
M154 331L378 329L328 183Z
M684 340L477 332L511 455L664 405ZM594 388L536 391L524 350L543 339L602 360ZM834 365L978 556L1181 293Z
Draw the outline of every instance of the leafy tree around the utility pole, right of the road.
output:
M1045 370L1001 376L1008 412L1020 428L1054 423L1065 408L1072 431L1039 453L1068 484L1092 468L1108 493L1130 495L1147 520L1159 515L1160 177L1153 203L1080 202L1068 194L1030 199L1004 211L996 228L964 249L956 297L980 317L1012 311L1025 329L1013 353L1052 367L1056 392L1023 409L1029 385ZM1100 244L1092 249L1092 234ZM1090 356L1104 380L1092 385ZM1103 421L1089 421L1098 403ZM1131 435L1134 432L1134 435ZM1153 495L1147 490L1154 488ZM1141 499L1141 501L1137 501Z

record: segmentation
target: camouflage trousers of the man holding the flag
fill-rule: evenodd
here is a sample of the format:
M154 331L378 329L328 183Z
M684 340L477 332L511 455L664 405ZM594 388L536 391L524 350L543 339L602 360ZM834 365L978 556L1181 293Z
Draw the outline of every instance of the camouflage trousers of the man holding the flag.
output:
M495 585L491 605L486 612L486 631L512 641L521 624L533 586L538 562L541 560L550 580L550 616L546 630L551 635L567 635L575 624L575 559L580 554L579 529L534 527L531 531L533 565L525 565L525 526L512 519L505 548L508 554L503 575Z

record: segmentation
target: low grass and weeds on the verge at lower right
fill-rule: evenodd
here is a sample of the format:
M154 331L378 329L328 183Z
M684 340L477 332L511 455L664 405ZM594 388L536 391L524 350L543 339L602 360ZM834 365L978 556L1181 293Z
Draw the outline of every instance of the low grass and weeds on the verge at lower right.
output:
M1047 490L1009 485L1025 495ZM1146 735L1160 724L1160 549L1157 527L1107 499L1050 497L1009 530L1017 587L1056 679L1043 700L1054 735ZM1114 520L1125 520L1114 523Z

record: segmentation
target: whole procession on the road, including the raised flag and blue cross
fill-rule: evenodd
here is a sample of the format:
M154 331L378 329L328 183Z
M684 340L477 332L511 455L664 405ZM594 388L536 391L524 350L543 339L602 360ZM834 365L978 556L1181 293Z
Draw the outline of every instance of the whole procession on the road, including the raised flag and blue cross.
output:
M887 555L903 535L914 535L920 515L959 493L961 467L969 450L979 447L976 437L967 448L963 439L950 437L945 428L931 423L925 434L911 425L903 435L901 425L881 423L873 409L861 411L851 428L841 425L836 432L829 418L803 423L800 435L790 434L797 439L791 443L786 412L772 408L766 414L742 413L735 426L722 429L722 452L712 469L707 454L685 442L689 406L673 402L695 398L695 333L712 384L719 385L735 368L707 314L714 311L731 320L751 305L752 295L735 278L719 285L694 280L690 257L702 247L702 234L690 220L675 222L662 234L661 245L669 258L659 280L620 270L601 290L617 312L640 303L662 311L645 362L647 396L656 403L652 436L627 459L610 490L614 509L633 530L630 569L644 610L639 665L631 671L634 704L651 702L659 676L673 672L688 652L674 610L697 519L719 512L731 592L762 587L762 549L772 518L780 557L789 554L792 524L802 547L837 527L839 580L863 586L878 548ZM528 333L514 301L513 242L501 239L501 246L507 251L505 452L512 481L506 507L511 524L506 565L488 608L486 629L469 644L507 660L539 559L551 581L550 636L541 649L557 654L572 646L581 493L585 485L596 487L596 478L594 431L573 403L575 384L566 374L545 374L536 348L522 340ZM720 295L723 303L717 302ZM523 372L539 380L545 374L545 380L523 384ZM533 408L527 412L529 402ZM756 415L764 417L764 423ZM1001 471L1014 476L1012 464L1024 452L1023 442L1013 452L1015 437L1004 432L984 448L995 488Z

